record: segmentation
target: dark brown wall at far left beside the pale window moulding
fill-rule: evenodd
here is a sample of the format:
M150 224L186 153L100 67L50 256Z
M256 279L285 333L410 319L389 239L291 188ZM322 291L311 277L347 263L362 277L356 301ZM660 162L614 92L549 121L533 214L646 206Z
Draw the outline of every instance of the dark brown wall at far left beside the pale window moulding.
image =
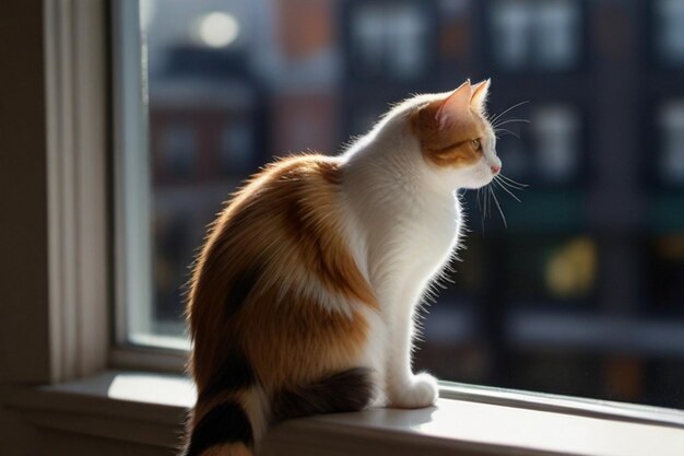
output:
M3 2L0 62L0 453L13 456L34 454L37 433L2 397L49 378L40 0Z

